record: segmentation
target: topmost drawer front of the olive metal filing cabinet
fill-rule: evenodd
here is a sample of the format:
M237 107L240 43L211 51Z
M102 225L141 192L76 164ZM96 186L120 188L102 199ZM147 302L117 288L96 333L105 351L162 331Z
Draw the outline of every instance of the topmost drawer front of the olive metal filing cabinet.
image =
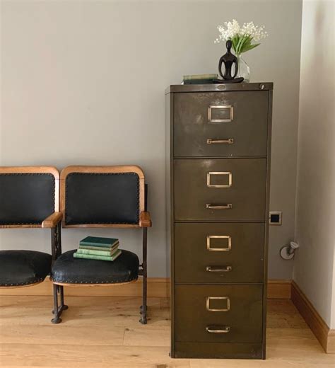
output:
M174 156L266 156L268 91L175 93Z

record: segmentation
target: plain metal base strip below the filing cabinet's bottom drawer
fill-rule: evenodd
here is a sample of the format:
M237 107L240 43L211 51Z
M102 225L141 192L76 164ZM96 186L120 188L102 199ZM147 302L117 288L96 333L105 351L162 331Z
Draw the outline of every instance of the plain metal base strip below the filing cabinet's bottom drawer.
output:
M175 343L172 358L265 359L262 344Z

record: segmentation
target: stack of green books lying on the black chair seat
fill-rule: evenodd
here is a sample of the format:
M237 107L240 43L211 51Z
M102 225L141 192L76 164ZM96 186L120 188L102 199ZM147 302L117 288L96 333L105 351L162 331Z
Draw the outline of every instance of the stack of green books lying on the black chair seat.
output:
M74 258L89 260L116 260L121 254L119 239L87 236L79 242Z

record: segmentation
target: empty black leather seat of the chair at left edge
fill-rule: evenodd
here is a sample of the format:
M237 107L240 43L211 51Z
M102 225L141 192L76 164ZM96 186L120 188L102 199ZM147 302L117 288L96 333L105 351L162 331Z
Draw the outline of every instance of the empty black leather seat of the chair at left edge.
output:
M0 251L0 287L42 282L51 269L52 256L37 251Z

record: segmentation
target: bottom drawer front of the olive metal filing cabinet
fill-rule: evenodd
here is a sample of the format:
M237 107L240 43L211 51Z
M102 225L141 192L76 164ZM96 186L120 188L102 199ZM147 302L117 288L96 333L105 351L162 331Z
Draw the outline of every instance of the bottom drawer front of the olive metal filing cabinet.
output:
M175 340L261 343L262 285L175 285Z

